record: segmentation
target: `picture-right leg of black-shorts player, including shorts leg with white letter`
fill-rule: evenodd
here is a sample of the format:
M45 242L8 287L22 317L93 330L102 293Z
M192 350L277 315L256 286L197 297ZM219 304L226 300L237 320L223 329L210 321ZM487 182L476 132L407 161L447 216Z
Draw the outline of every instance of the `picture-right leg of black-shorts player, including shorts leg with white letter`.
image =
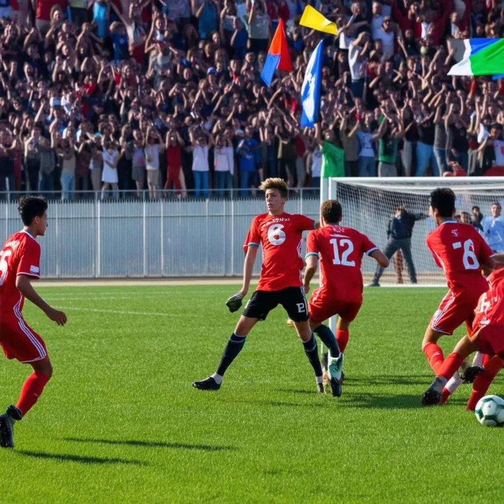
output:
M308 358L317 381L319 392L324 392L322 365L319 358L319 347L308 322L308 302L303 287L287 287L278 293L278 301L294 322L294 328L301 340L304 353Z

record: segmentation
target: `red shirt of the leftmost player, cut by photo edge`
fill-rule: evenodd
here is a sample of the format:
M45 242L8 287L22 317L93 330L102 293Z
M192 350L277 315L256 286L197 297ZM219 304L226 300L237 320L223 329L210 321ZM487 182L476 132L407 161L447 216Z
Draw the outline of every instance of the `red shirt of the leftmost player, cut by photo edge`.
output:
M14 233L0 251L0 318L21 316L24 297L16 277L40 278L40 245L27 231Z

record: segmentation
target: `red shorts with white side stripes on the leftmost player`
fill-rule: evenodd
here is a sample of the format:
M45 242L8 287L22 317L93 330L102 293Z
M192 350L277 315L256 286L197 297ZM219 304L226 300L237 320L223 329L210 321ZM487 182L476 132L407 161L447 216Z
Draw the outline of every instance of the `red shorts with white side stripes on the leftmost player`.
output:
M35 362L47 356L44 340L22 317L0 321L0 345L8 359L20 362Z

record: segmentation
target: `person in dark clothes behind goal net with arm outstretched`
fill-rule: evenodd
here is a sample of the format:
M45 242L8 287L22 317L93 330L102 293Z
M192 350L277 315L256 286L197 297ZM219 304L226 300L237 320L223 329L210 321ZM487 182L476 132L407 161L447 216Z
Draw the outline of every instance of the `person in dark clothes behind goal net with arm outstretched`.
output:
M413 257L411 256L411 235L413 233L413 226L417 220L426 219L427 217L427 214L413 214L408 212L404 206L399 205L396 208L395 215L389 220L387 228L388 241L384 248L384 254L390 259L397 250L401 250L408 267L412 284L416 284L415 265L413 264ZM377 267L369 287L380 287L380 278L383 271L384 269L381 266Z

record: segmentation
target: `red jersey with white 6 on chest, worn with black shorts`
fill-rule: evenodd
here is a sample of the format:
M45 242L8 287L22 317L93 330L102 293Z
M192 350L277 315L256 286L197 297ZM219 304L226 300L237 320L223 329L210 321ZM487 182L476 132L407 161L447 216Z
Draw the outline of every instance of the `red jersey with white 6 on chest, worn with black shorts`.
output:
M243 248L263 246L263 266L257 290L276 291L302 286L302 233L314 227L315 221L304 215L283 213L254 217Z

